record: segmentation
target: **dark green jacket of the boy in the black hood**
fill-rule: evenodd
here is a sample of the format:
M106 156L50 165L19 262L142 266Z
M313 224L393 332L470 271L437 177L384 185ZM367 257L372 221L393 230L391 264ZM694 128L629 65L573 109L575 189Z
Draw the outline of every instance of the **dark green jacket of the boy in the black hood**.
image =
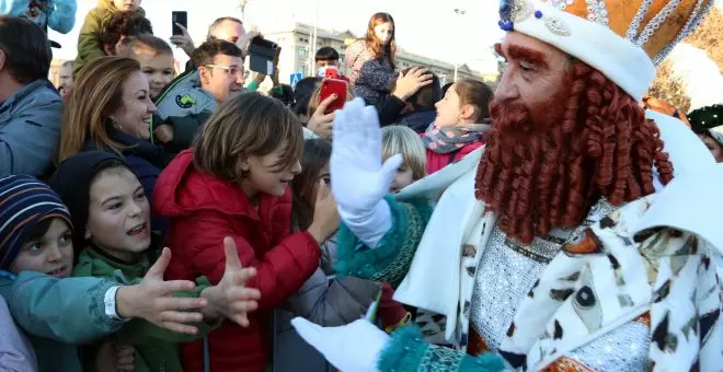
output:
M148 272L151 260L154 259L154 257L149 256L144 256L136 264L126 264L97 248L87 247L80 254L79 263L73 268L72 276L114 278L124 284L137 284ZM198 278L197 283L198 287L195 291L175 293L174 295L197 298L202 290L210 286L206 277ZM113 339L118 345L133 346L136 349L136 372L181 372L183 368L177 344L202 339L215 328L214 325L205 323L194 325L198 327L199 332L195 336L190 336L160 328L145 319L131 319L113 336Z

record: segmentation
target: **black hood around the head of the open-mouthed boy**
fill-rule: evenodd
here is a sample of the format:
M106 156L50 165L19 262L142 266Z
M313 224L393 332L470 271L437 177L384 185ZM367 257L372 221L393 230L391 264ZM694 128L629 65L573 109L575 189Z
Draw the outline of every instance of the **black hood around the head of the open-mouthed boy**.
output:
M113 152L79 152L62 161L48 182L70 211L74 226L72 243L76 248L76 257L85 245L91 183L101 171L118 163L130 170L130 165Z

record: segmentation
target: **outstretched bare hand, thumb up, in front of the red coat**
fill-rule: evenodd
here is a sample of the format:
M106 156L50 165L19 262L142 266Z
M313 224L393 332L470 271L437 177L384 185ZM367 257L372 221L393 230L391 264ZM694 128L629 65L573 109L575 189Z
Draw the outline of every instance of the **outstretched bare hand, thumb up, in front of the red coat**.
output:
M254 288L246 288L249 279L256 275L253 267L243 268L236 243L231 237L223 239L223 252L226 253L226 270L218 284L206 289L202 297L208 299L209 307L219 315L242 326L249 326L249 312L259 307L256 300L261 292Z

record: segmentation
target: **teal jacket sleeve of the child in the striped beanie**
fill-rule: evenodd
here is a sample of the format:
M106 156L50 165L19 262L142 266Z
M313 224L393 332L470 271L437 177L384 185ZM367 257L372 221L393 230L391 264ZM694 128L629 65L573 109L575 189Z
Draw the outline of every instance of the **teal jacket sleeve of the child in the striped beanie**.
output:
M0 279L0 294L33 344L39 372L81 372L77 345L111 335L124 323L105 315L105 292L114 286L100 278L23 271L14 280Z

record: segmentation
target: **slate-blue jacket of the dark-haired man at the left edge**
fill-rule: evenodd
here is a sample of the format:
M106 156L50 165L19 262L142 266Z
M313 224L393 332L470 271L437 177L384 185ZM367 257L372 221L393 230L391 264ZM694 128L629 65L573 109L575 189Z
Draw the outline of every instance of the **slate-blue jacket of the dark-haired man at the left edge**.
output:
M47 80L36 80L0 103L0 177L41 176L60 141L62 101Z

